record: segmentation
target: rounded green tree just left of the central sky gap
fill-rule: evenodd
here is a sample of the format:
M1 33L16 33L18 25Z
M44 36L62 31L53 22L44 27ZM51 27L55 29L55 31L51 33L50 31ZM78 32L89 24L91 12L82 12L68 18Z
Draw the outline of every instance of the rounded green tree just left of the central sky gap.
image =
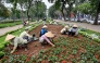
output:
M39 1L38 3L35 2L35 4L32 5L29 14L34 17L42 18L46 17L46 11L47 11L47 7L45 2Z

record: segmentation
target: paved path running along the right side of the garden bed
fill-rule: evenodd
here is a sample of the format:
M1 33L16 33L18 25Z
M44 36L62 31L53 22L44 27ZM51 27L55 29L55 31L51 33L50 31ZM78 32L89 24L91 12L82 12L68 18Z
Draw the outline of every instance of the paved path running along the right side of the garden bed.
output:
M64 22L64 21L60 21L60 20L55 20L55 21L65 23L65 24L71 24L71 25L76 24L83 28L87 28L87 29L100 33L100 25L91 25L91 24L87 24L87 23L77 23L77 22Z

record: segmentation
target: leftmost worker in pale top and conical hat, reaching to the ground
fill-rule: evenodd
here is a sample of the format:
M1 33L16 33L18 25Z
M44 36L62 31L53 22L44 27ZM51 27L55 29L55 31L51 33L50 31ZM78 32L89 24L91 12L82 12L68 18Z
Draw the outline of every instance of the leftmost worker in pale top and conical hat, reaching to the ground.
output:
M23 46L25 49L27 48L27 40L20 37L15 37L13 35L8 35L5 41L11 41L10 43L14 46L11 53L13 53L18 46Z

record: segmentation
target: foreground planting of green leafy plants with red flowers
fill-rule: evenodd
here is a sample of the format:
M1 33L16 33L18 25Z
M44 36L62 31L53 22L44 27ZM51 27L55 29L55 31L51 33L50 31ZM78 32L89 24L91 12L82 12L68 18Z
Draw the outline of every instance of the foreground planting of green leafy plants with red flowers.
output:
M53 40L54 48L40 50L37 55L5 54L2 63L99 63L100 43L82 37L59 37Z

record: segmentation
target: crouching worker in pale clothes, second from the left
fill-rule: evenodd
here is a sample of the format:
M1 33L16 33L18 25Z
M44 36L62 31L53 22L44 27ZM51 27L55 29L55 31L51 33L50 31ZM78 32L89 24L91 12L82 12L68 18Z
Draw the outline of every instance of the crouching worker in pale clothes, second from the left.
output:
M30 36L28 32L28 27L26 27L25 30L20 35L20 37L26 39L28 42L33 40L38 40L38 38L35 37L35 34Z

